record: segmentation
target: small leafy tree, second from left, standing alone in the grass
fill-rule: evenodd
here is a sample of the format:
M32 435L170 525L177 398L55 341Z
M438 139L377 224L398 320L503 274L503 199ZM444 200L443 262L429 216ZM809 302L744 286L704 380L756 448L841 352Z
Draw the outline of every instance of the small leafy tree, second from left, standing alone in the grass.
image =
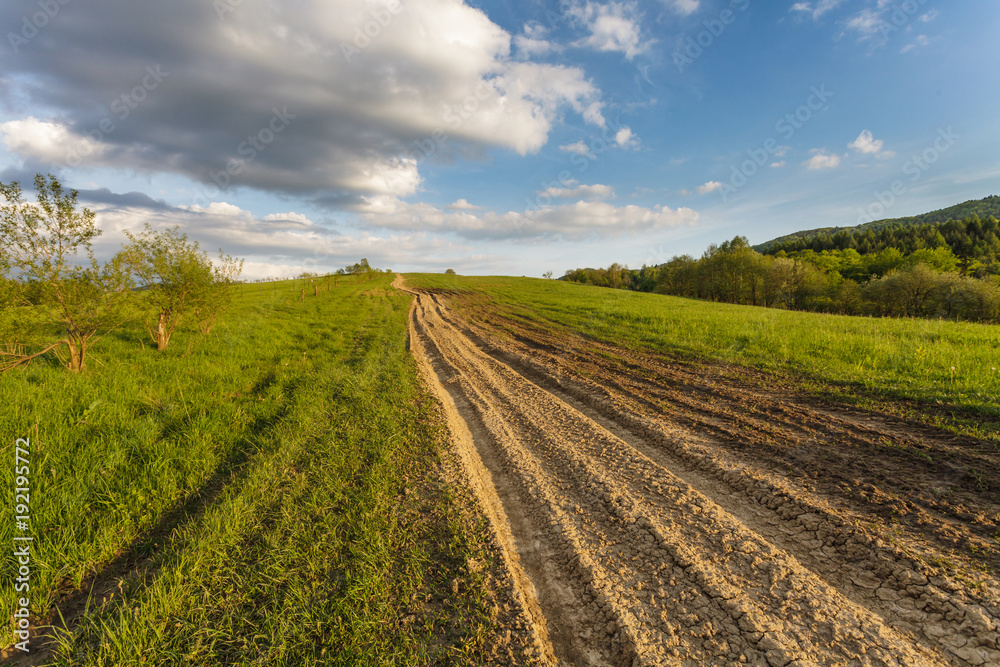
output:
M163 232L148 224L139 235L125 232L129 239L119 257L144 290L144 300L155 318L155 326L147 320L149 335L156 349L163 351L170 344L181 319L188 313L200 313L199 320L210 331L215 315L228 286L243 268L242 262L223 258L221 267L213 267L208 254L189 242L178 227Z

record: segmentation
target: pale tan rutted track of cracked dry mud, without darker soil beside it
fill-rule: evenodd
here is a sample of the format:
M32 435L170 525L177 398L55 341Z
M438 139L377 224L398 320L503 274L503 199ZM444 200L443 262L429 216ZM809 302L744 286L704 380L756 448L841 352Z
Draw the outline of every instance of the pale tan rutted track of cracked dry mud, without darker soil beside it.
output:
M814 499L685 443L620 387L491 344L440 297L414 296L414 354L464 429L466 482L504 544L540 662L1000 662L991 610Z

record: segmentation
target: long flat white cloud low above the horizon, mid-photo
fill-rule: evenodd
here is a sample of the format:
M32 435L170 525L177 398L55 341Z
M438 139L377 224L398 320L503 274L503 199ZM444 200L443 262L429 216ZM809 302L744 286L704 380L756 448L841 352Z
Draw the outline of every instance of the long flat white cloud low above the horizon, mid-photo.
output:
M431 230L492 240L607 238L698 223L698 213L689 208L614 206L603 201L473 214L443 211L424 202L377 197L359 210L362 220L372 228Z

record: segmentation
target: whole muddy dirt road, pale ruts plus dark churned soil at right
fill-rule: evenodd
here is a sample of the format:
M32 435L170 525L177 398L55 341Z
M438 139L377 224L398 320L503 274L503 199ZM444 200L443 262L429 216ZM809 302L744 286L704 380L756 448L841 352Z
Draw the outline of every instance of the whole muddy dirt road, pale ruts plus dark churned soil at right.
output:
M917 462L955 487L922 502L865 474L886 438L989 452L414 295L412 350L542 662L1000 664L995 492ZM956 534L986 545L975 581L928 564Z

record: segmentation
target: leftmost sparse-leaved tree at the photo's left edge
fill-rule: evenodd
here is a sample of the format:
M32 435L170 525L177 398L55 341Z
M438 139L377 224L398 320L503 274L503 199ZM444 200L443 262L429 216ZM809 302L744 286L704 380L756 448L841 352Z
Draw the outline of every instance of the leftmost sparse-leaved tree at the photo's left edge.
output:
M77 210L76 190L66 192L55 176L37 174L35 192L37 204L30 204L17 182L0 183L6 201L0 206L0 256L5 270L12 272L2 289L7 310L30 294L47 321L61 325L62 338L37 352L8 345L0 353L0 369L30 363L65 346L66 367L80 372L98 333L125 319L131 282L117 260L102 266L94 257L92 243L101 230L93 211Z

